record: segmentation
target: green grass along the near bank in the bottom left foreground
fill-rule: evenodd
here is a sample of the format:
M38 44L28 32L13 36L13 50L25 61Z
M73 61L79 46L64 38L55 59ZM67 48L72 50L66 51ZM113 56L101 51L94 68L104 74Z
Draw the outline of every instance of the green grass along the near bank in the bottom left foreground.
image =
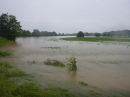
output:
M67 89L49 87L41 89L35 83L16 84L9 80L12 77L27 76L21 70L12 70L8 62L0 62L0 97L74 97Z

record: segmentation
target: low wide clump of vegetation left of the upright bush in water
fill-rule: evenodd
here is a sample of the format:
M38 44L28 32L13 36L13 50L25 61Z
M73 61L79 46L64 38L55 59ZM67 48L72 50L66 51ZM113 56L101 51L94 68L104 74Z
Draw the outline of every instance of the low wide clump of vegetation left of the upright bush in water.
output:
M65 65L62 62L58 61L58 60L47 59L46 61L44 61L44 64L65 67Z

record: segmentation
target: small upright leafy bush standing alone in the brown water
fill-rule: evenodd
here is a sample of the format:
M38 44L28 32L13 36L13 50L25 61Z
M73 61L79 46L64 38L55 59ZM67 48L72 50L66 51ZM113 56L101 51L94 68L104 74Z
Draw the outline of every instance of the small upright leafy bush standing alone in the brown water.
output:
M70 57L68 59L68 63L67 63L67 66L69 66L69 68L71 70L77 70L77 66L76 66L76 58L75 57Z

